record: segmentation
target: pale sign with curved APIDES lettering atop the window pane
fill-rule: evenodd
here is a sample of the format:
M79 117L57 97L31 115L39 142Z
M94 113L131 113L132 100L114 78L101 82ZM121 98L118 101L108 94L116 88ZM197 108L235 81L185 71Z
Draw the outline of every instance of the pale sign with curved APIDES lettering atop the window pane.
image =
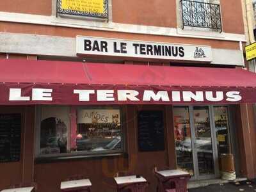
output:
M120 124L119 109L79 109L77 113L77 124Z

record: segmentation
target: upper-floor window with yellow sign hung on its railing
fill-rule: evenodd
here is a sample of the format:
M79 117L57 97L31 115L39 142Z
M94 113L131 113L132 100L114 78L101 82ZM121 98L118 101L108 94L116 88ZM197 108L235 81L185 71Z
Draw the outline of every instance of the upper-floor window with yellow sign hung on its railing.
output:
M57 0L57 14L108 19L108 0Z

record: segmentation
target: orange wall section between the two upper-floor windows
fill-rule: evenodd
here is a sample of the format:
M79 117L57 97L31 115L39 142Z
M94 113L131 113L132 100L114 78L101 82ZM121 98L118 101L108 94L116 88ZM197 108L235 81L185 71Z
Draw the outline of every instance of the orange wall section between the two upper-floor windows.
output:
M113 22L176 28L175 1L112 1Z

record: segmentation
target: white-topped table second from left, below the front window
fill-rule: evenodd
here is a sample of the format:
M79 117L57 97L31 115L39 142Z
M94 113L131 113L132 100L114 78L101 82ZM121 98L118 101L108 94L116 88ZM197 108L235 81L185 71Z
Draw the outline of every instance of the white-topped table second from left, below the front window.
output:
M92 182L89 179L68 180L60 184L61 191L91 191Z

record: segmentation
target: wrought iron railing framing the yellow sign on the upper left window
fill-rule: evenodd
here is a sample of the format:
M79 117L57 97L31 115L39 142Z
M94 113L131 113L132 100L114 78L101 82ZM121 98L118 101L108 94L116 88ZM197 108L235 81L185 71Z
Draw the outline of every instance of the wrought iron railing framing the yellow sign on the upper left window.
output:
M78 10L63 9L61 4L62 4L62 0L57 0L57 13L58 14L87 16L87 17L108 19L108 0L104 0L103 13L97 13L97 12L95 12L95 10L88 10L88 11L83 12L83 11L78 11Z

